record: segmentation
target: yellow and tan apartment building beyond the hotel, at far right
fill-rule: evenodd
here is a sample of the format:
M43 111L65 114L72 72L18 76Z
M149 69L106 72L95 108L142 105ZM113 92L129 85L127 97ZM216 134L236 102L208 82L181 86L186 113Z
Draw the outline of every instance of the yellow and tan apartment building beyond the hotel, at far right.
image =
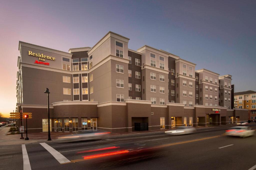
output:
M234 93L234 108L248 109L248 120L256 120L256 91Z

